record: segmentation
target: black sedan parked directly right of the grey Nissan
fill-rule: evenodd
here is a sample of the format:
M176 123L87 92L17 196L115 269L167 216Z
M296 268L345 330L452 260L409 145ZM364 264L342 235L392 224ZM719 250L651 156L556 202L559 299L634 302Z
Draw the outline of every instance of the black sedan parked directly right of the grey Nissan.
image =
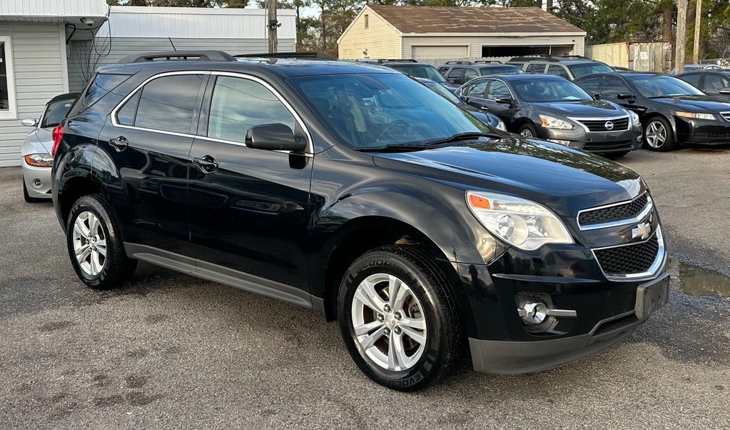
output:
M673 76L601 73L575 83L637 113L645 146L653 151L672 151L680 144L730 143L730 103Z

